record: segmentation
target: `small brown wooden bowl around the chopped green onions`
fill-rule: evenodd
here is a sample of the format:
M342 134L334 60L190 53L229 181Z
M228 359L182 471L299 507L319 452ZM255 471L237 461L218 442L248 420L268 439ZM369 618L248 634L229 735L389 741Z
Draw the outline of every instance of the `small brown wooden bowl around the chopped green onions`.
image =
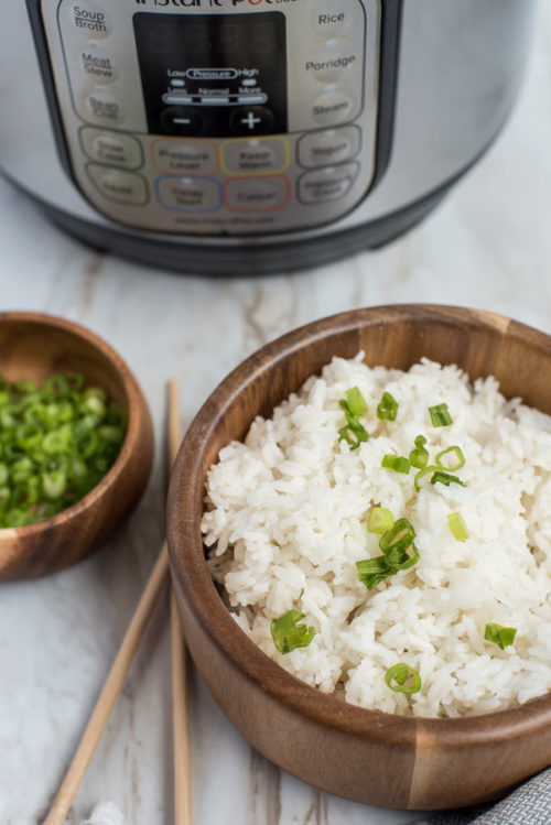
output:
M104 479L51 519L0 530L0 580L35 578L98 550L138 503L151 470L153 431L143 394L125 361L101 338L63 318L0 313L0 374L39 384L64 370L105 389L128 412L121 452Z

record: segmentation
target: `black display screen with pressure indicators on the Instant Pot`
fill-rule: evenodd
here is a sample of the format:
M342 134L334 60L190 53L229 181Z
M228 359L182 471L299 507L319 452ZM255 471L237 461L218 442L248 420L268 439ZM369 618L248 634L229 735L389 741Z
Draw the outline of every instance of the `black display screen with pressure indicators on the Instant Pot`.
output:
M133 28L150 133L287 132L283 13L139 12Z

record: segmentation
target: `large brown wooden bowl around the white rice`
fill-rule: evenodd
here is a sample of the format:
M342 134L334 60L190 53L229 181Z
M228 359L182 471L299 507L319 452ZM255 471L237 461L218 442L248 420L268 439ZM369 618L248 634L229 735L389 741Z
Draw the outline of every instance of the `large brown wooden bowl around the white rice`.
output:
M504 393L551 413L551 337L508 318L443 306L360 310L269 344L217 388L193 422L169 496L169 544L192 656L214 698L277 764L332 793L400 808L495 799L551 763L551 697L462 719L365 710L300 682L239 629L208 574L199 530L204 481L242 438L334 355L408 369L422 356L494 374Z

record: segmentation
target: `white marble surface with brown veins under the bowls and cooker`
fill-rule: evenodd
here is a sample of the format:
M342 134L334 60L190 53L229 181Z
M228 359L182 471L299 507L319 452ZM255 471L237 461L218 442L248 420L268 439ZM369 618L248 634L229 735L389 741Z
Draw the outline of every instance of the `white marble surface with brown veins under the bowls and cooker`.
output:
M313 272L209 281L90 251L0 180L0 310L79 321L128 360L162 432L164 382L184 424L258 346L350 307L430 301L514 315L551 332L551 7L541 4L516 113L498 143L421 227L393 246ZM126 528L94 558L0 586L0 823L36 825L83 731L163 531L162 468ZM172 822L168 609L159 607L76 800L77 823L111 799L129 825ZM398 825L279 771L191 684L197 825Z

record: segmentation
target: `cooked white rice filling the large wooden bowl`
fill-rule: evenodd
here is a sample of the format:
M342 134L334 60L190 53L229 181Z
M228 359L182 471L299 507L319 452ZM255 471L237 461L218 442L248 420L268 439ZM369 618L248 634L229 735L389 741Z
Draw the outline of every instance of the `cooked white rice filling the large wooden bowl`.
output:
M337 441L339 399L358 387L370 438ZM399 402L381 422L382 392ZM451 426L428 408L446 402ZM431 463L458 445L466 487L429 485L381 467L408 456L417 435ZM430 478L430 477L429 477ZM409 372L369 369L363 354L334 358L298 394L220 451L207 479L205 544L236 621L276 662L355 705L418 716L461 716L525 703L551 690L551 417L507 401L494 378L474 387L457 367L423 359ZM420 560L368 590L356 562L381 555L366 521L374 506L412 523ZM460 512L469 538L456 541ZM315 629L281 654L270 622L288 610ZM484 640L496 622L517 629L505 650ZM387 670L406 662L419 693L395 693Z

